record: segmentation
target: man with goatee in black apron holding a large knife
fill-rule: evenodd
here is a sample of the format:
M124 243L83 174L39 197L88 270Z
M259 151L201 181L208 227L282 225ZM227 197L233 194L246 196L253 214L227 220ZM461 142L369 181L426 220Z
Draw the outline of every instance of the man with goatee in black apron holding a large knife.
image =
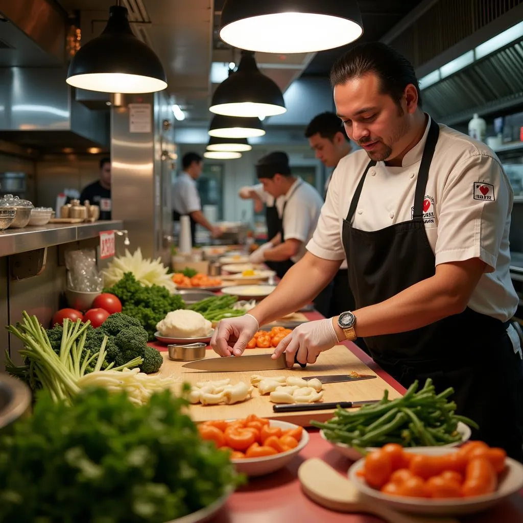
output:
M275 349L316 361L362 336L404 386L448 386L472 438L522 459L523 360L510 323L513 191L493 151L421 108L414 69L382 43L354 47L331 72L338 116L362 151L336 168L308 253L242 319L211 340L241 354L258 324L306 302L347 256L356 310L295 328Z

